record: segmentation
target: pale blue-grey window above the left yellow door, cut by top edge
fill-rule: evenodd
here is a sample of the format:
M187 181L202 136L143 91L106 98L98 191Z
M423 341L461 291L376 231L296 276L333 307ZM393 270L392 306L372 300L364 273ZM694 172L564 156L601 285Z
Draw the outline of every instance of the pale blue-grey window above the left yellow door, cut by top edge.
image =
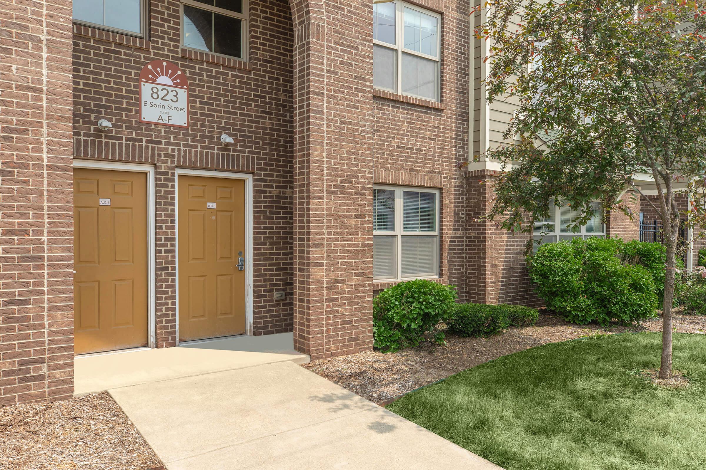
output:
M126 35L145 35L145 0L73 0L73 20Z

